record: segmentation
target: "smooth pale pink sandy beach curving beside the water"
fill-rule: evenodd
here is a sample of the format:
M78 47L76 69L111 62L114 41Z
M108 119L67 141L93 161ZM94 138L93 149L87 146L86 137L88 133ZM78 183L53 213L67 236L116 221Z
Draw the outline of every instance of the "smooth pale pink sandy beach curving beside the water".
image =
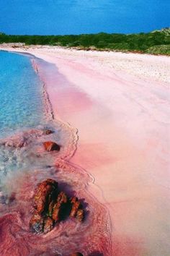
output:
M6 50L12 49L6 48ZM16 49L13 50L16 51ZM114 64L108 60L111 58L109 55L102 59L103 54L101 54L97 59L97 54L90 52L81 52L81 54L78 52L76 55L73 50L52 48L30 48L26 52L55 64L58 71L63 74L61 81L54 80L46 83L50 103L55 116L61 116L64 121L68 121L73 127L79 129L79 148L71 162L83 167L95 177L96 185L91 184L89 191L95 194L99 202L109 208L113 225L114 255L131 256L143 255L143 253L153 255L155 252L152 248L153 242L147 244L148 232L142 228L142 225L146 228L145 221L149 221L150 213L153 216L154 225L161 218L161 213L157 219L154 210L151 210L152 207L156 207L155 196L158 193L169 196L169 191L161 189L159 185L156 187L157 179L161 175L158 169L164 167L166 170L167 168L167 160L166 163L161 163L161 158L166 157L164 151L167 150L167 145L164 144L165 137L161 137L166 131L163 124L166 123L167 116L163 114L160 106L164 104L166 108L169 104L166 102L165 94L165 99L159 98L159 95L161 90L166 93L168 87L168 72L167 74L163 72L164 66L169 65L169 59L166 59L168 57L155 57L161 58L158 64L155 63L158 59L151 57L151 62L148 61L146 69L155 65L153 72L145 74L145 67L140 70L142 67L140 62L143 59L147 61L148 56L143 56L141 60L138 54L134 57L135 64L134 60L131 63L130 59L122 57L123 54L113 54L114 56L111 57L117 58ZM119 61L122 63L119 64ZM136 64L138 68L133 70ZM162 64L164 64L163 67ZM156 72L156 67L161 73L161 78ZM130 86L130 83L133 85ZM58 85L57 89L56 85ZM105 86L107 90L103 88ZM141 86L143 88L140 88ZM151 90L148 90L148 87L151 87ZM158 90L157 95L152 93L155 87ZM123 95L124 93L128 97ZM140 101L140 95L143 93L145 97ZM153 98L150 101L147 97ZM153 108L155 108L154 113ZM151 135L152 131L153 135ZM154 150L156 145L159 145L161 155ZM155 159L156 155L159 159L156 164L153 164L151 159ZM148 166L146 166L147 162ZM125 166L131 169L127 174ZM137 174L135 174L135 168L138 170ZM156 174L149 176L148 171L152 173L153 169L156 169ZM142 175L143 171L145 175ZM168 173L165 175L166 179L167 175ZM151 179L155 179L156 184L153 184ZM161 181L161 186L166 186L166 179ZM151 193L151 197L147 196L148 193ZM146 198L148 204L146 204ZM138 226L141 213L147 208L147 214L143 216L144 221ZM133 216L134 213L137 218ZM135 229L135 225L138 226L139 231ZM151 230L153 231L153 226ZM158 237L155 237L154 233L150 232L150 235L154 242L158 242ZM166 239L168 236L165 237ZM162 243L158 244L157 252ZM164 245L164 252L166 249L168 252L169 248Z

